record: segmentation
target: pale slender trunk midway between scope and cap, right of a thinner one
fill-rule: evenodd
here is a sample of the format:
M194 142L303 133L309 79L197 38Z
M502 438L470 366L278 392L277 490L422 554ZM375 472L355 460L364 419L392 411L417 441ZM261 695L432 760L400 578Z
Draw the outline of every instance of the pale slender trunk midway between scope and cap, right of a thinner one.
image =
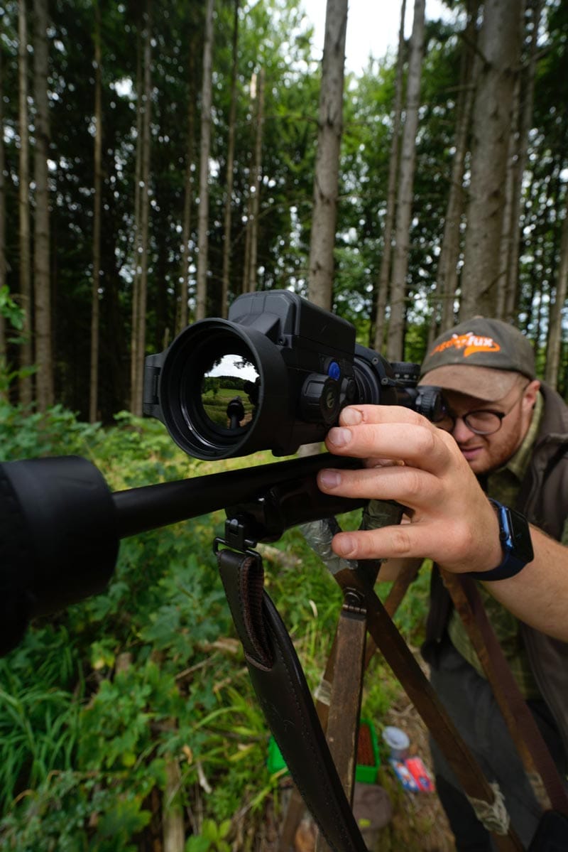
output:
M412 216L412 193L416 163L416 132L418 130L418 107L420 106L420 83L422 78L422 54L424 50L425 0L415 0L414 21L410 37L410 59L406 89L406 118L400 153L399 204L394 238L393 277L391 282L391 315L388 324L387 358L400 360L404 348L404 322L406 314L406 273L410 249L410 222Z

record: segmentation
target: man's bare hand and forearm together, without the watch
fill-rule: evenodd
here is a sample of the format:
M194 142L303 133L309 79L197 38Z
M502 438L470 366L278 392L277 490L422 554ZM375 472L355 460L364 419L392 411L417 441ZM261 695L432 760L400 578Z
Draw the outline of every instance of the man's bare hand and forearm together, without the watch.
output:
M364 468L322 470L322 491L397 500L410 517L410 523L396 527L339 533L332 543L338 555L430 557L454 573L490 571L500 564L496 512L451 435L406 408L351 406L325 443L336 455L363 459ZM534 560L485 588L519 619L568 642L568 548L536 527L531 538Z

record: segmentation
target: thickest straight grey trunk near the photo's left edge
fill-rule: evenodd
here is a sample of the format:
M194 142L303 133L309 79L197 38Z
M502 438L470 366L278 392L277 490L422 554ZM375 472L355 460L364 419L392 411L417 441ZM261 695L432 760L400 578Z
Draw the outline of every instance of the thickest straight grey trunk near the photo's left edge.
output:
M34 222L34 301L36 341L37 408L44 412L54 404L51 339L51 284L49 280L49 102L48 102L48 6L47 0L34 0L33 79L36 101L36 148L34 180L36 212Z

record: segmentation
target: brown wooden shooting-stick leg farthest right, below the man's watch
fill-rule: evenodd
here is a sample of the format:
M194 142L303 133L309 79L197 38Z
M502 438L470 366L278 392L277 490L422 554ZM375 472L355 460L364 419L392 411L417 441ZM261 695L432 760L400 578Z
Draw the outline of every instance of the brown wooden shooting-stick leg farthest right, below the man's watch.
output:
M447 572L442 572L442 577L527 773L531 775L536 771L540 775L552 808L568 815L568 797L558 769L487 618L477 585L471 577Z

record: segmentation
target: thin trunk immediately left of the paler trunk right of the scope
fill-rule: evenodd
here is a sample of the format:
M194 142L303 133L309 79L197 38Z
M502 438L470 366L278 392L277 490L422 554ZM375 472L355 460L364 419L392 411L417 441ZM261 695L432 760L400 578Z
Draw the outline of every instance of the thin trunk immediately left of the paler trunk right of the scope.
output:
M406 0L403 0L400 9L399 53L397 55L397 74L394 88L393 138L391 140L391 153L390 158L388 160L387 215L385 217L381 269L379 271L379 281L376 290L375 348L377 352L382 352L382 348L385 343L385 328L387 325L386 312L388 298L388 281L390 279L391 273L394 209L396 206L397 198L397 175L399 174L399 137L400 124L402 119L405 17Z

